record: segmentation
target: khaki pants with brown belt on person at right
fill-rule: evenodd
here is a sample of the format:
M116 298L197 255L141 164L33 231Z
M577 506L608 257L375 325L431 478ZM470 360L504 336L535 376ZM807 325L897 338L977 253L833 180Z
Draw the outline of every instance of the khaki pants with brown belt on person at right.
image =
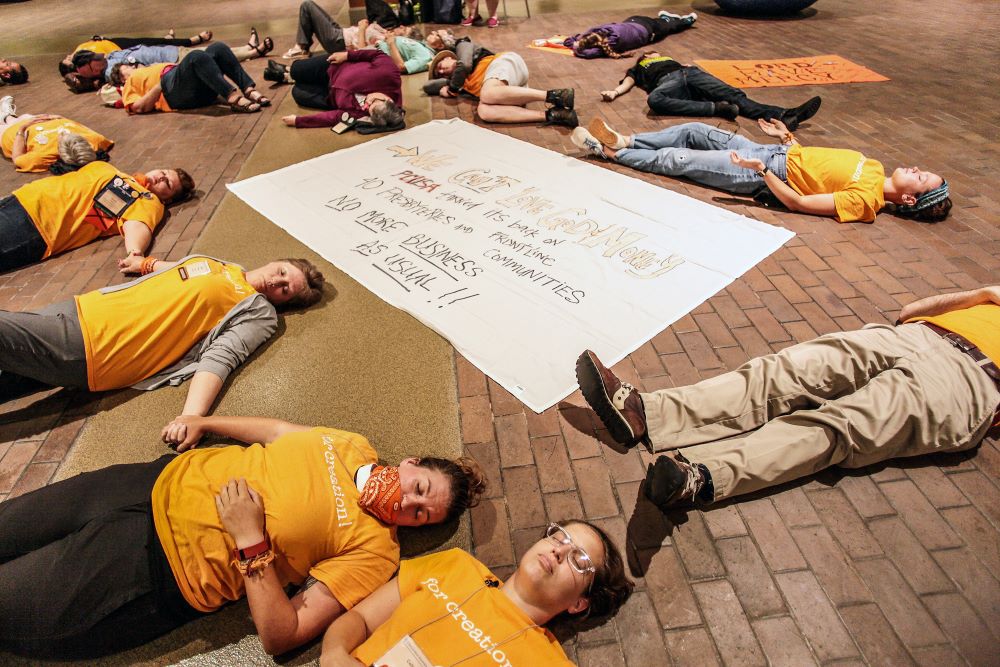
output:
M969 449L1000 392L968 355L904 324L821 336L642 401L653 447L695 445L684 455L720 500L832 465Z

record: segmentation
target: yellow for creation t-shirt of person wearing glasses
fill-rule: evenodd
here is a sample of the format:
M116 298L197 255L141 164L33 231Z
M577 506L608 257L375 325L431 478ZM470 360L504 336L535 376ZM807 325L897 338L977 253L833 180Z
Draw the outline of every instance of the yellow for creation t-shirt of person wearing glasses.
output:
M558 640L544 628L532 628L532 620L502 588L484 586L487 578L496 579L461 549L403 561L399 607L355 649L354 657L375 664L408 634L434 665L572 665Z

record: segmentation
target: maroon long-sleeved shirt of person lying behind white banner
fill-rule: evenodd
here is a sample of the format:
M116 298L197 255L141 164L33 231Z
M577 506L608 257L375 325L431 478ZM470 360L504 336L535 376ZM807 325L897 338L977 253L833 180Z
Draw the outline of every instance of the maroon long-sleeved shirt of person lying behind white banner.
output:
M327 75L330 77L327 100L331 111L296 116L295 127L333 127L345 111L354 118L367 116L368 112L361 108L356 95L385 93L396 106L403 106L403 79L399 67L378 49L348 51L347 62L330 65Z

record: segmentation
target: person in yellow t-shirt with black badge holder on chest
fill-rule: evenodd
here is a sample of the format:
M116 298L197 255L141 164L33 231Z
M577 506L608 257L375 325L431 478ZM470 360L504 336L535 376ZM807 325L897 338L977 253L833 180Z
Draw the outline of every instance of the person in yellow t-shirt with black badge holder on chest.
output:
M85 146L71 137L59 142L70 151L67 157L89 158ZM15 145L24 142L22 135ZM99 160L31 181L0 199L0 271L115 234L122 237L127 255L142 256L165 207L186 200L193 190L194 181L183 169L130 175Z

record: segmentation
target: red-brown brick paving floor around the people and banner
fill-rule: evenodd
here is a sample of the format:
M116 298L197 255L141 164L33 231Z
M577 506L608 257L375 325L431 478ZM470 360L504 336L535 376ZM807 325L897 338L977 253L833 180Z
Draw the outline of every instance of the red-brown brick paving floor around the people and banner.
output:
M272 0L248 8L227 1L212 11L205 5L177 10L153 4L151 16L160 20L169 11L181 11L189 24L225 16L223 29L236 36L244 28L236 24L258 20L255 12L278 25L281 12L292 15L295 3ZM590 9L599 4L586 2ZM519 50L537 87L572 83L585 121L600 112L633 130L673 122L647 116L638 92L613 105L597 101L597 91L612 87L627 61L581 62L523 48L531 38L632 13L574 14L572 7L537 2L530 22L474 29L473 37L497 49ZM793 105L822 95L820 114L797 132L802 142L853 147L889 168L918 164L943 173L952 183L955 210L938 225L888 214L875 225L838 225L633 174L797 236L619 364L615 370L622 377L647 391L694 382L817 334L893 321L899 308L916 298L995 282L1000 60L991 45L1000 5L820 0L814 15L787 21L732 19L713 7L695 3L696 28L669 38L662 50L685 62L836 53L889 76L886 83L756 89L752 96ZM51 57L26 62L33 72L54 70ZM259 75L260 64L250 69ZM116 164L136 170L178 164L191 170L205 194L179 207L158 235L155 251L170 257L191 247L268 117L130 119L69 96L47 72L33 75L33 81L14 89L19 107L58 111L105 131L119 142ZM438 100L434 113L473 120L468 103ZM740 126L748 136L764 139L750 123ZM565 130L493 129L579 154ZM26 180L0 170L0 190ZM2 275L0 307L36 307L114 282L109 260L117 252L118 243L106 241ZM578 394L536 415L463 359L457 368L463 440L493 482L488 501L472 513L476 555L506 574L548 521L579 516L608 530L629 555L636 593L615 619L568 635L566 648L579 664L996 664L1000 451L995 442L962 456L893 462L849 475L827 471L668 519L637 500L651 457L608 446L607 434L581 407ZM92 401L67 392L41 403L26 410L22 403L4 406L0 498L45 484L95 409Z

